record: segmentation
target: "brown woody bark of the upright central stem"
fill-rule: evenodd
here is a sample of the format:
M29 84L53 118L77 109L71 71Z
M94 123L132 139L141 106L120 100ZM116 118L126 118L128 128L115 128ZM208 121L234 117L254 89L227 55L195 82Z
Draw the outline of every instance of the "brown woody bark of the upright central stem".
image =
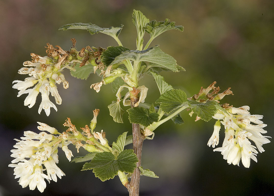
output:
M138 102L139 97L137 95L130 96L131 107L134 107L134 104ZM137 168L134 170L131 181L127 185L129 191L129 196L139 196L139 185L140 185L140 169L141 166L141 154L142 154L142 145L144 142L144 137L140 132L139 124L132 123L132 134L133 134L133 150L138 157Z

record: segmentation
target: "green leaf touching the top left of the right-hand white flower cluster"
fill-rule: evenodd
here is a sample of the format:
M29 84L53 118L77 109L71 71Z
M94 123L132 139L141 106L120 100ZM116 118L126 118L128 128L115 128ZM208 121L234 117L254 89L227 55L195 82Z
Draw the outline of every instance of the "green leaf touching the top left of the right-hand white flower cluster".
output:
M187 100L189 107L192 111L197 114L197 116L201 117L204 121L209 121L212 119L217 113L216 102L215 101L207 101L205 103L200 103L195 100Z

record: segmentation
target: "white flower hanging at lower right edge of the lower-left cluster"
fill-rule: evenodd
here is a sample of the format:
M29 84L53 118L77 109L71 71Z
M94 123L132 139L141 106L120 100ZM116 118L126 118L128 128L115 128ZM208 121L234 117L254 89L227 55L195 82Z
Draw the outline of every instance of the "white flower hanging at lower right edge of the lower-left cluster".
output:
M53 180L57 182L56 175L61 179L62 176L65 175L65 173L58 168L58 166L55 164L55 161L53 158L49 158L48 161L43 162L45 168L47 169L48 179Z

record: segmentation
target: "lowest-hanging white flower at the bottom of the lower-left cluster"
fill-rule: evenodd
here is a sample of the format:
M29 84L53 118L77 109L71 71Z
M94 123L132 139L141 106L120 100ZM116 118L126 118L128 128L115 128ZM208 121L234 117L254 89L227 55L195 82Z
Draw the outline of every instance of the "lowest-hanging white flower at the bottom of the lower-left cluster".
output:
M36 166L35 168L35 171L34 171L34 174L30 175L28 177L28 180L30 180L29 182L29 187L30 187L30 190L34 190L37 186L37 189L40 191L40 192L43 192L44 189L46 188L46 182L44 179L49 179L47 175L45 175L42 170L41 170L41 167L39 166Z

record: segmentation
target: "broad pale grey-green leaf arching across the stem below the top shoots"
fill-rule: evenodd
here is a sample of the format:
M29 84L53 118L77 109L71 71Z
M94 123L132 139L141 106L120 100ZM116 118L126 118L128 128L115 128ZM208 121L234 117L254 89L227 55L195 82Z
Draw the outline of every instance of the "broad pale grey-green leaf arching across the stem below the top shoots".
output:
M110 65L122 62L123 60L133 60L136 63L147 61L155 63L159 67L178 71L176 60L169 54L164 53L158 45L148 48L147 50L128 50L117 56Z

